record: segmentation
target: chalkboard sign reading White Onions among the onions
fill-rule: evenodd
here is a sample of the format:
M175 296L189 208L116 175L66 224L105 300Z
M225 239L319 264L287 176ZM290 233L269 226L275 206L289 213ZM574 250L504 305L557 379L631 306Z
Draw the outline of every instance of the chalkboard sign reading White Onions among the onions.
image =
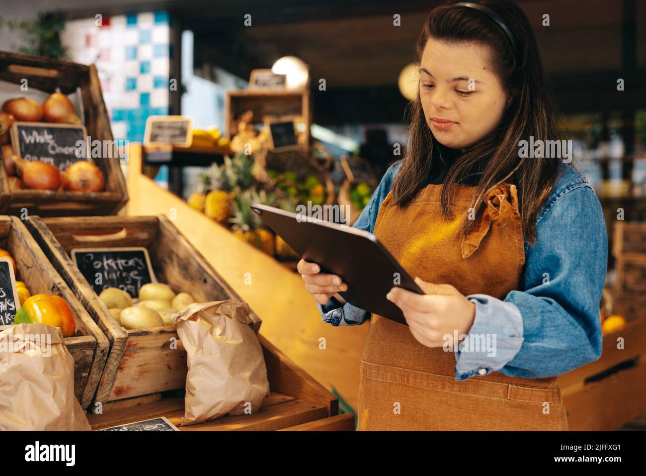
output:
M14 122L11 138L16 155L52 164L61 172L90 157L83 125Z

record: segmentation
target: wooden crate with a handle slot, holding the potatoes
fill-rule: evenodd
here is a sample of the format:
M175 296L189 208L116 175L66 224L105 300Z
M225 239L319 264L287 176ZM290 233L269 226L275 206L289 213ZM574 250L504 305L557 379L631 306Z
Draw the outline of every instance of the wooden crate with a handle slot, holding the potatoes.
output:
M200 302L238 299L238 294L183 237L169 219L159 217L86 217L39 219L28 227L63 279L110 340L110 354L96 394L105 404L172 389L183 389L186 352L171 349L174 327L123 330L72 263L72 248L145 246L160 283L187 291ZM216 244L214 244L216 246ZM252 311L256 330L260 319Z

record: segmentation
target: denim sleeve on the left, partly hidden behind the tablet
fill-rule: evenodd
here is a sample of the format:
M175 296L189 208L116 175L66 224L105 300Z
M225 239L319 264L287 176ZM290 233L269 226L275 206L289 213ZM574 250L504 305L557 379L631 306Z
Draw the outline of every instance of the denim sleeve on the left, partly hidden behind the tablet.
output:
M359 230L366 230L370 233L375 232L375 222L381 203L384 201L393 184L395 175L401 166L401 161L395 162L384 174L379 186L370 197L370 201L361 211L359 218L353 224L353 228ZM317 303L318 312L320 313L323 322L331 325L358 325L362 324L370 318L370 312L354 307L350 303L341 304L335 297L331 297L327 303L320 305Z

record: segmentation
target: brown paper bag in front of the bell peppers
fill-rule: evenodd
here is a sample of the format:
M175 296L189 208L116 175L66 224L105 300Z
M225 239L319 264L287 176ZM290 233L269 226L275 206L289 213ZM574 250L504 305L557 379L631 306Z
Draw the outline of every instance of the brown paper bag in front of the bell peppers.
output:
M91 431L74 396L74 359L44 324L0 331L0 430Z

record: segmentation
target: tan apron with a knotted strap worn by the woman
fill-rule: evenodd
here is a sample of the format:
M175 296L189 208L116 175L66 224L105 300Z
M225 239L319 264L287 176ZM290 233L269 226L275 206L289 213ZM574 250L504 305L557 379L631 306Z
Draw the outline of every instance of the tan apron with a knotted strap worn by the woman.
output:
M412 277L450 284L464 296L505 299L519 289L525 248L516 186L501 184L461 239L475 188L458 184L444 219L441 185L422 189L406 207L379 210L375 235ZM373 314L361 361L359 430L567 430L556 377L492 372L455 380L455 354L426 347L408 326Z

